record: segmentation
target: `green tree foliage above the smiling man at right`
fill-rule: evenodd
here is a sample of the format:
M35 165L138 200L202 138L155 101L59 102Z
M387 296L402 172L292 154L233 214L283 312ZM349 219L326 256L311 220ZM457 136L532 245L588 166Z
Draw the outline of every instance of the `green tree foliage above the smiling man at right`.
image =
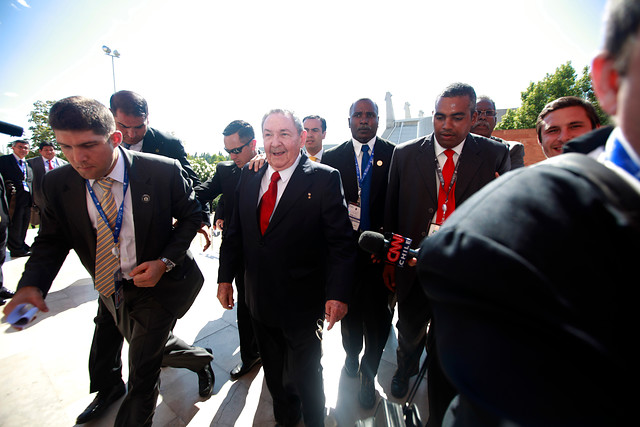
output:
M582 77L578 78L571 61L556 68L555 73L547 74L537 83L531 82L520 94L522 105L509 110L502 117L496 129L531 129L536 126L538 114L546 104L562 96L578 96L590 101L602 124L609 123L609 117L602 111L593 92L589 67L584 67Z

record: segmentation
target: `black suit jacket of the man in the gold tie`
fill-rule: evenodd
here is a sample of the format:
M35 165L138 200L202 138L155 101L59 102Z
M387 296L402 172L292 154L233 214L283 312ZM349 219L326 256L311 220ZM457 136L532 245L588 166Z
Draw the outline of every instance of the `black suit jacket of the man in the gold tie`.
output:
M149 292L181 317L203 283L188 251L200 227L200 204L177 161L129 150L120 150L120 155L129 171L138 264L160 257L177 264ZM18 288L37 286L46 295L70 249L93 277L96 231L86 208L85 180L71 165L47 173L43 189L46 202L40 232ZM173 218L178 220L175 226Z

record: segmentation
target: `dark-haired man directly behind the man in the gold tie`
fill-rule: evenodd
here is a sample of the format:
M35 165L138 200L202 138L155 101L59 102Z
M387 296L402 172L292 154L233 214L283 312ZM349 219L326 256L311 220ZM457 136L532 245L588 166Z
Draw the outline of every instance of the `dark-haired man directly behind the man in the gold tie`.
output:
M109 106L116 120L116 128L122 132L122 145L133 151L158 154L176 159L189 175L191 184L200 184L198 175L191 168L182 141L149 126L147 100L135 92L121 90L109 100Z

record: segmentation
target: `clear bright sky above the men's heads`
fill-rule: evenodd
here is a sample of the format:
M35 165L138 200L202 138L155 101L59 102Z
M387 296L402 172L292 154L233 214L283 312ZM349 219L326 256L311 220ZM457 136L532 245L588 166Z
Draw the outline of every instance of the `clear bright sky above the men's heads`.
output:
M571 61L578 75L600 45L605 0L1 0L0 120L25 128L37 100L71 95L108 105L116 89L149 102L150 125L187 152L217 153L232 120L260 135L271 108L327 119L326 143L350 138L349 107L369 97L385 127L430 115L449 83L498 108ZM0 135L0 146L13 140ZM258 136L258 144L262 145Z

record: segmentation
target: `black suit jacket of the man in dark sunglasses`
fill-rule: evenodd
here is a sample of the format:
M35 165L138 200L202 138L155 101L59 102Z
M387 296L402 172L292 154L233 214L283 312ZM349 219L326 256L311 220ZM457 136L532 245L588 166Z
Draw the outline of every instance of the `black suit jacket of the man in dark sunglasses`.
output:
M223 210L222 219L225 224L231 222L231 214L233 211L233 204L235 199L235 189L240 180L241 170L232 161L219 162L216 165L216 173L207 180L207 182L198 185L195 188L196 197L202 206L208 205L213 199L222 194L218 206L225 205L229 208ZM203 221L207 225L211 225L208 212L204 212ZM218 216L218 210L216 210L216 217Z

